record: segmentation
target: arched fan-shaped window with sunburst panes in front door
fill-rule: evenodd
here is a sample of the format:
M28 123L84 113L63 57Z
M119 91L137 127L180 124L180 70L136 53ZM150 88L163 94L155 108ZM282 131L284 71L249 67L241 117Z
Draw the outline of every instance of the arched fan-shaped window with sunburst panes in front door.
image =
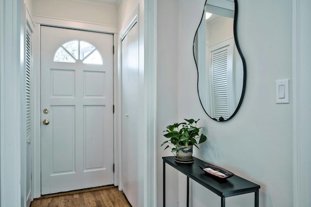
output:
M61 45L54 54L54 62L75 63L81 60L85 64L103 65L100 52L84 40L70 40Z

